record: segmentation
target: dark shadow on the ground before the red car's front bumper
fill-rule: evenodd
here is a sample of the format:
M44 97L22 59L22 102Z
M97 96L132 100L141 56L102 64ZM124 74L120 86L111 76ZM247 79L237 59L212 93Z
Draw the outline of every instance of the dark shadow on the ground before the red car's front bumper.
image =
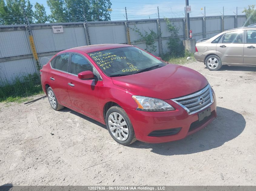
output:
M137 141L133 148L151 148L151 152L161 155L180 155L198 153L220 147L243 132L244 117L232 110L217 107L218 117L204 129L174 142L150 144Z

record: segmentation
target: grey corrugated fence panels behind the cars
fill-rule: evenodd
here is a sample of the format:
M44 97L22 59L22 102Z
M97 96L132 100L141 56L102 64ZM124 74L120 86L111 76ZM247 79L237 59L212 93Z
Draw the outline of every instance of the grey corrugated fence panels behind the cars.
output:
M190 19L193 38L209 38L223 30L223 19L216 17L195 17ZM244 15L225 16L224 30L241 27L246 21ZM185 18L170 18L172 25L178 28L178 38L184 40ZM173 38L168 31L164 19L131 20L128 21L131 44L146 49L145 41L134 30L137 28L144 35L145 31L153 30L159 34L158 23L161 26L160 38L155 39L157 51L153 54L168 53L168 40ZM62 25L64 33L53 33L52 25ZM76 23L46 23L31 24L32 35L40 65L45 65L49 59L61 50L77 46L102 43L128 42L126 21L100 21ZM36 72L35 60L33 59L28 31L26 25L0 25L0 78L12 81L15 77L21 77ZM1 80L1 79L0 79Z

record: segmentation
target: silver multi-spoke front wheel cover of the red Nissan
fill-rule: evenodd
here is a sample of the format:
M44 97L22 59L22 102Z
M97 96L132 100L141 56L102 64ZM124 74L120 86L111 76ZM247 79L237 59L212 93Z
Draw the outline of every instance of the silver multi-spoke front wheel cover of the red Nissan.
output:
M108 116L109 129L116 139L125 141L129 135L129 129L124 117L117 112L110 113Z

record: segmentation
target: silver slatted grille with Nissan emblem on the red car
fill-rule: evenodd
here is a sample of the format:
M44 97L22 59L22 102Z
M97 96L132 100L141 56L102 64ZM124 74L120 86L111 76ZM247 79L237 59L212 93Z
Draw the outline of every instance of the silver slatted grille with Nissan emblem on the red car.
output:
M205 109L214 102L209 84L198 92L171 100L183 107L189 115Z

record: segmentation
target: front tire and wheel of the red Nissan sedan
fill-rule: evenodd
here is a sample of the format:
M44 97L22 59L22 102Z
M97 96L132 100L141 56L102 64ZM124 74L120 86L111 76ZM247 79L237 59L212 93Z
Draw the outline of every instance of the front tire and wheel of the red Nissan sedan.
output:
M121 120L119 120L121 117ZM106 114L105 122L111 137L121 145L130 145L136 141L131 121L121 107L113 106Z

